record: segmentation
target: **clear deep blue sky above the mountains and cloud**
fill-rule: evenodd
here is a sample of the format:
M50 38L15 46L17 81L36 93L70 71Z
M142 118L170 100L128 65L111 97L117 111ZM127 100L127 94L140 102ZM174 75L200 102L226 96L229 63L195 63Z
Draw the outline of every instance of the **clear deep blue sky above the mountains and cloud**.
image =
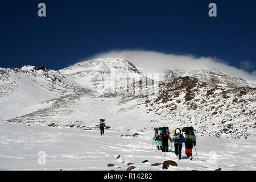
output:
M38 16L38 3L47 17ZM208 16L210 2L217 17ZM112 49L217 57L255 70L256 1L1 1L0 67L61 69Z

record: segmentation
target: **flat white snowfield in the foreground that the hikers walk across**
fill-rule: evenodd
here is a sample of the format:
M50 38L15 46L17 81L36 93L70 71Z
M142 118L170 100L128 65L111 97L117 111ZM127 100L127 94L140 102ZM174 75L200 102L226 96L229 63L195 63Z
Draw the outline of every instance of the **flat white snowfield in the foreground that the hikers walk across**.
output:
M28 126L20 123L0 122L0 170L163 170L164 160L174 160L177 167L167 170L256 170L256 140L198 137L197 155L188 161L182 151L177 161L171 150L164 152L152 148L152 132L132 131L100 132L63 127ZM172 145L173 147L173 145ZM39 151L46 153L46 164L39 165ZM116 159L118 155L121 158ZM148 160L147 163L142 163ZM115 166L108 167L111 163Z

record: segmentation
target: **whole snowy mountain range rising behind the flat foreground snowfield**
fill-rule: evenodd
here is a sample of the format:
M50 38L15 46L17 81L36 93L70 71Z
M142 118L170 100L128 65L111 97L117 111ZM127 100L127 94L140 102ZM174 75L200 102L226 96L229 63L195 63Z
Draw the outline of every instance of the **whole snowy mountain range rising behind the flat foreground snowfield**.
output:
M92 121L101 115L123 129L123 122L130 125L142 116L134 126L143 130L193 125L202 136L255 138L255 89L215 70L167 71L165 81L152 84L154 80L129 61L109 58L60 71L43 66L1 68L1 74L0 102L6 108L0 119L11 122L84 128L93 127Z

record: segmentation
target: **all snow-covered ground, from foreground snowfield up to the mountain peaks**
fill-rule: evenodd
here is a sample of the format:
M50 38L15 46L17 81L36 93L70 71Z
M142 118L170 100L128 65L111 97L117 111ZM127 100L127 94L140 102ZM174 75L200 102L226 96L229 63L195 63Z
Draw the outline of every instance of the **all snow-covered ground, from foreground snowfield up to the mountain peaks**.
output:
M135 170L162 170L151 166L165 160L151 147L152 129L161 126L193 126L198 136L199 159L183 160L183 153L171 170L255 169L256 91L240 78L211 69L173 70L157 82L118 58L60 71L0 68L0 76L0 120L8 121L0 121L0 169L42 169L31 160L44 150L43 169L125 170L134 163ZM111 126L104 137L96 127L100 118Z

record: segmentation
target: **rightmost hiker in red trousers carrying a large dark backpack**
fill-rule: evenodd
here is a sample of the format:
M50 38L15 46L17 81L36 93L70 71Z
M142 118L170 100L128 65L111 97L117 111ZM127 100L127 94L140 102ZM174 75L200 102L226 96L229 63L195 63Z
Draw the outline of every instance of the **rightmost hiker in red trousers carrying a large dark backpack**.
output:
M196 136L193 127L184 127L182 129L185 141L185 153L189 160L192 160L192 148L196 146Z

